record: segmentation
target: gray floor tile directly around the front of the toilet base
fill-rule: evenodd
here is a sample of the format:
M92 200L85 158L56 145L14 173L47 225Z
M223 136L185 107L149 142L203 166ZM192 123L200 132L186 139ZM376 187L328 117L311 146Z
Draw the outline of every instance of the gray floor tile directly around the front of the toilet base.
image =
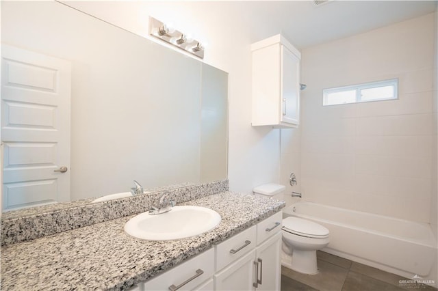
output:
M318 261L320 273L316 275L305 275L285 268L281 273L301 283L305 283L320 291L340 291L344 285L348 270L325 261Z

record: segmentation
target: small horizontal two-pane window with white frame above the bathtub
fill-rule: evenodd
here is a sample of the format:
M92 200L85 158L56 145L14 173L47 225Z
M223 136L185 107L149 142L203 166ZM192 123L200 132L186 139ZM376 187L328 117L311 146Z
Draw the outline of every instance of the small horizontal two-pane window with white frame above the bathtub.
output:
M322 105L397 99L397 91L398 79L323 89Z

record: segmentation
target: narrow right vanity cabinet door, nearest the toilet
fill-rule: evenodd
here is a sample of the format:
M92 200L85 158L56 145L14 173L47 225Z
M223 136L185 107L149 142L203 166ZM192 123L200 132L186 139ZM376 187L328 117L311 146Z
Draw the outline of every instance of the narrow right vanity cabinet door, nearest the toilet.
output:
M281 281L281 232L257 247L257 291L280 290Z

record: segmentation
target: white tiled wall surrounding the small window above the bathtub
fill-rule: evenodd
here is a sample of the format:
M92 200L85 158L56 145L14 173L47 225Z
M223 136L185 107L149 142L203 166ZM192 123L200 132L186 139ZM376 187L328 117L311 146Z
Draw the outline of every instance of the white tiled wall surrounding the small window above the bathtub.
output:
M434 44L435 14L428 14L302 50L306 200L413 221L436 217ZM393 78L398 100L322 107L323 88Z

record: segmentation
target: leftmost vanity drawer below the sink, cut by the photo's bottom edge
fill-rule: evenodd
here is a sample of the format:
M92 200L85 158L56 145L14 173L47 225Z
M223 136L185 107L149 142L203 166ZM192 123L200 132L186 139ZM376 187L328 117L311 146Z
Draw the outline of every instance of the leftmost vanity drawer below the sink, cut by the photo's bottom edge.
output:
M194 290L196 286L211 279L213 276L214 265L212 262L214 262L214 248L196 255L196 257L191 258L187 262L183 262L169 271L144 282L142 290L175 290L175 288L191 278L194 279L185 283L178 290ZM201 274L201 272L203 273Z

